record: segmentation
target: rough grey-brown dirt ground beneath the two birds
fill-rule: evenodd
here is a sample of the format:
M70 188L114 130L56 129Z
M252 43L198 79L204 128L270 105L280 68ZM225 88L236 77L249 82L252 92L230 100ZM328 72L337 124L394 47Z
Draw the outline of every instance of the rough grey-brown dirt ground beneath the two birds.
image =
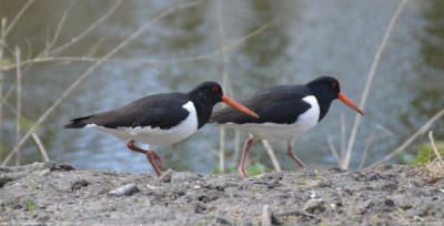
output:
M428 182L416 166L164 175L54 162L0 167L0 225L444 224L444 179Z

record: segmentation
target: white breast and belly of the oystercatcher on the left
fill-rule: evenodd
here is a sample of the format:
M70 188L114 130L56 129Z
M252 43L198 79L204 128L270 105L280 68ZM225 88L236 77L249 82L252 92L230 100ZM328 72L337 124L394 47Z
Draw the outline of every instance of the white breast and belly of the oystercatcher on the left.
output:
M173 127L170 127L169 130L162 130L159 127L153 129L150 126L109 129L98 126L95 124L89 124L87 127L97 129L122 140L133 140L150 144L151 147L173 144L189 137L191 134L198 131L198 114L195 112L193 102L189 101L182 107L188 110L190 114L184 121Z

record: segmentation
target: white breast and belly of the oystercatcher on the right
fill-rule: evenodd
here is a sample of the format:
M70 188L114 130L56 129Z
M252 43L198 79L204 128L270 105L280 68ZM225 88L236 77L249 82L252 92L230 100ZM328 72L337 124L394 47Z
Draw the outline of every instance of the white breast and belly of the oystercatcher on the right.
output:
M276 123L246 123L246 124L223 124L228 127L238 129L254 137L266 138L269 141L293 142L297 136L310 131L319 122L320 107L314 95L309 95L302 99L309 103L311 107L299 115L297 121L293 124L276 124Z

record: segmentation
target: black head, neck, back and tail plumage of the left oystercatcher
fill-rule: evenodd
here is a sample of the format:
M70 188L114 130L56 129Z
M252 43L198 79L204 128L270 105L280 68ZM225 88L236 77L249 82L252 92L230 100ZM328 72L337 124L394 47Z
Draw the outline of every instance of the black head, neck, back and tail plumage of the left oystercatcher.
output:
M198 129L210 119L214 104L222 100L222 88L216 82L202 82L188 94L161 93L139 99L119 110L71 120L65 129L81 129L97 124L109 129L151 126L171 129L190 114L182 106L192 101L198 113Z

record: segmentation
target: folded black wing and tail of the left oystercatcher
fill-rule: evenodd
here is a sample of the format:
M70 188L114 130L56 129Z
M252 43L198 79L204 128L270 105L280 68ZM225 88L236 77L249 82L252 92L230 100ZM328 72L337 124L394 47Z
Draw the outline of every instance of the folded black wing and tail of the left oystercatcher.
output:
M150 95L119 110L71 120L64 127L78 129L97 124L110 129L151 126L167 130L186 119L190 113L182 105L189 101L182 93Z

